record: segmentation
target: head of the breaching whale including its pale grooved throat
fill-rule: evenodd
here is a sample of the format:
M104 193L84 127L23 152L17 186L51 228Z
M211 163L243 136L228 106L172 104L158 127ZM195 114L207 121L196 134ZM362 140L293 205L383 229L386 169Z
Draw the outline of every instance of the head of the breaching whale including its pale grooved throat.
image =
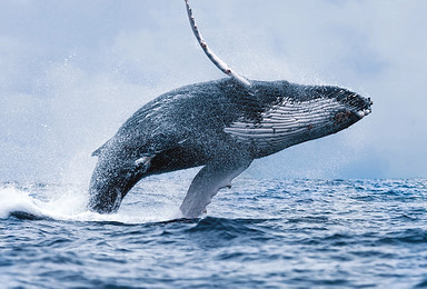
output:
M256 82L251 108L225 131L252 147L256 157L341 131L371 112L371 100L335 86L300 86L287 81ZM261 103L260 103L261 102Z

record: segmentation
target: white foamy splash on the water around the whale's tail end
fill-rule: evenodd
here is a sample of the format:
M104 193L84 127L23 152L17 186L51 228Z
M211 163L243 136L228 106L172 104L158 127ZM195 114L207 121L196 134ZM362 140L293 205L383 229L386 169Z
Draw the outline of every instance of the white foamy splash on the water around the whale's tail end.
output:
M0 218L23 213L59 221L111 221L146 223L179 218L178 207L166 203L155 208L122 206L117 213L100 215L87 209L86 188L72 186L7 185L0 187Z

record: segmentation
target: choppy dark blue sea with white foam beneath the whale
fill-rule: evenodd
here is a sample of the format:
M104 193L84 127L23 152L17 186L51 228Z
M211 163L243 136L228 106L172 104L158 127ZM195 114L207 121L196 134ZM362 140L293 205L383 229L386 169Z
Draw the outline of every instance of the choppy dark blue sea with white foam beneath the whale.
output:
M0 287L427 287L426 179L240 178L173 219L189 181L148 179L111 216L81 188L0 185Z

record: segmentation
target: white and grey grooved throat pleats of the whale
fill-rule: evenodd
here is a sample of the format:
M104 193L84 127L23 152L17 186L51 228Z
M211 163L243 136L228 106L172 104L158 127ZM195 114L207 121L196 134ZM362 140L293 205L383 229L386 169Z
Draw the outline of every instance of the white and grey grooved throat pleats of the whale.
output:
M259 156L268 156L290 146L337 132L336 116L346 111L334 98L297 101L285 98L264 111L257 121L245 118L225 128L240 142L251 144Z

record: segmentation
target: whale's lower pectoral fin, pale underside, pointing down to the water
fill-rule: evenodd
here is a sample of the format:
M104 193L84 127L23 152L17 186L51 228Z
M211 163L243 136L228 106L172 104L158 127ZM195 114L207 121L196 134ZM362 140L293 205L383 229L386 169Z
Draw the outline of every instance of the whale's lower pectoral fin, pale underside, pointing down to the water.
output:
M205 210L215 195L246 170L252 159L239 159L225 162L215 161L206 165L192 180L187 196L180 206L183 218L197 218Z

